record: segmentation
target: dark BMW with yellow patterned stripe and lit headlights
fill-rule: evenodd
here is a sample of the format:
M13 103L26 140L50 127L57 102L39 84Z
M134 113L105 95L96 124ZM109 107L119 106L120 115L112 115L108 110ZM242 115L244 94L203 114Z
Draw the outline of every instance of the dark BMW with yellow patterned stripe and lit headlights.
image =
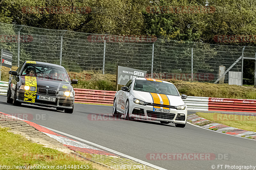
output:
M64 67L56 64L26 61L17 71L9 71L7 103L21 103L44 107L56 107L65 113L73 113L75 91Z

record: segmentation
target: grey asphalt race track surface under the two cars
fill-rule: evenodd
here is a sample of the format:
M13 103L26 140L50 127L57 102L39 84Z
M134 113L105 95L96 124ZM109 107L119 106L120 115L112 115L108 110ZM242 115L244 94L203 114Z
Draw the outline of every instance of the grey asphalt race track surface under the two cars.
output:
M6 103L5 96L0 95L0 112L10 115L31 114L34 118L29 120L31 122L165 169L210 170L212 165L215 165L215 169L218 169L217 165L256 166L255 140L217 133L188 123L185 128L176 128L172 123L162 125L156 121L128 121L122 118L113 120L110 116L111 109L110 106L76 104L74 113L66 114L55 108L27 104L22 104L21 107L13 106ZM148 153L214 153L217 159L218 155L221 159L221 154L228 155L228 158L226 160L148 160L146 158Z

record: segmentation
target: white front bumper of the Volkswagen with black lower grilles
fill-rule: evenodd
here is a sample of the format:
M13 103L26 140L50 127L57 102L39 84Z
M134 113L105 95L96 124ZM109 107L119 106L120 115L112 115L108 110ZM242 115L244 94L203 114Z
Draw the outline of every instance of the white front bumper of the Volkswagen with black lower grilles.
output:
M136 109L140 108L140 110ZM177 110L170 108L170 113L153 112L153 106L138 105L130 100L129 116L137 119L167 121L173 123L186 124L187 121L187 107L185 110ZM180 120L180 115L185 115L185 119Z

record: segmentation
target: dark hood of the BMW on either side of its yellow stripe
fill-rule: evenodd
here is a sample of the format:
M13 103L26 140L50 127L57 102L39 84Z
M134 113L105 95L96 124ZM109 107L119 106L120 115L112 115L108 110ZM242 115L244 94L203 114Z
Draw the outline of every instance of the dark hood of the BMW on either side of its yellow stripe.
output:
M25 85L25 76L20 76L20 83ZM60 91L73 91L72 86L68 82L49 80L46 78L36 78L36 85L38 88L47 88ZM49 86L49 87L46 87Z

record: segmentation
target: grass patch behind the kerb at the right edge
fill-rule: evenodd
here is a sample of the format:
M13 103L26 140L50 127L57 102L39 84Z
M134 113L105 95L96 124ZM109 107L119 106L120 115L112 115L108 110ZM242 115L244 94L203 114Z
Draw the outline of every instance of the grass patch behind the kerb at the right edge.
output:
M230 115L202 112L197 112L196 115L216 123L256 132L256 116L253 115Z

